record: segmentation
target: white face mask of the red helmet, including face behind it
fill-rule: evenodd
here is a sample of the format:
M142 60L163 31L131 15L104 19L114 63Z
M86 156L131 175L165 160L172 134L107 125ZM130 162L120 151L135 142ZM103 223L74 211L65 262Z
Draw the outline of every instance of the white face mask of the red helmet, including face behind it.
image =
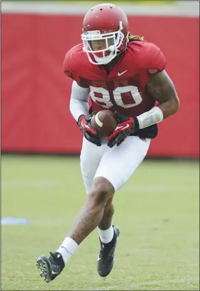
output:
M119 27L121 27L119 23ZM121 47L125 35L119 29L117 32L108 32L101 34L100 30L88 31L82 34L84 43L84 51L88 55L88 59L93 65L106 65L111 62L118 53L118 48ZM98 48L98 43L101 49L94 49L95 45Z

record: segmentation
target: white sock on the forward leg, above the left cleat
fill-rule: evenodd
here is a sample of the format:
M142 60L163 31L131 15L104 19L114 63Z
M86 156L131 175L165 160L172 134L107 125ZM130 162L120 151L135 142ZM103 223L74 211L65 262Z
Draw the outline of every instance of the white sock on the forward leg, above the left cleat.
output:
M62 258L64 259L64 263L66 264L66 261L68 261L71 255L73 255L77 247L78 247L78 244L71 237L65 237L60 248L58 248L56 252L62 255Z

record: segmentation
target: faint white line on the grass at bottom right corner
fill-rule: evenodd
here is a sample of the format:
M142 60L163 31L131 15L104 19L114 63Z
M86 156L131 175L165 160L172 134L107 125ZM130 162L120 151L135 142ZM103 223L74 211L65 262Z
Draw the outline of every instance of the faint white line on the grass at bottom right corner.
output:
M181 283L195 283L199 282L199 277L193 277L193 278L183 278L183 279L168 279L168 280L162 280L162 281L147 281L147 282L141 282L141 283L133 283L131 285L131 288L137 288L139 286L155 286L160 285L163 286L164 284L181 284Z

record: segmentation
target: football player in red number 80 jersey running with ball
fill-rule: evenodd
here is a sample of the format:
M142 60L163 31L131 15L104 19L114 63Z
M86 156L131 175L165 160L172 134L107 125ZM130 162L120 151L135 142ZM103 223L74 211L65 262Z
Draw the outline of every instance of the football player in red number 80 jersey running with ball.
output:
M157 124L179 109L165 67L162 51L129 32L127 16L117 5L95 5L86 13L82 44L67 52L64 73L73 79L70 110L84 134L80 160L88 195L58 250L38 257L40 275L47 283L60 275L96 228L97 270L101 277L112 270L120 233L112 224L114 193L142 163L158 134ZM114 112L118 126L102 144L90 120L105 108Z

